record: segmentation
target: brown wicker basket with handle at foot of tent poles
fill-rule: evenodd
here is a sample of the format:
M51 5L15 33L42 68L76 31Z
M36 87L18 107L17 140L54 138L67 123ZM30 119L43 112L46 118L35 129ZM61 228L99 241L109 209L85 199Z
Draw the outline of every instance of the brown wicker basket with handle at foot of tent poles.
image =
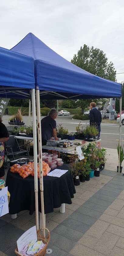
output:
M43 229L46 229L46 228L43 228ZM40 234L43 229L39 229L39 230L37 231L37 240L38 240L38 241L41 241L41 240L42 240L43 243L46 243L46 246L45 246L40 252L34 254L34 256L45 256L45 255L46 255L46 248L47 248L48 243L49 243L49 241L50 241L50 231L49 231L48 229L46 229L47 232L48 232L48 236L47 236L47 237L44 237L44 236L41 236L41 234ZM18 255L18 256L24 256L23 254L21 254L21 253L18 252L18 249L17 249L17 248L15 249L15 253L16 253L16 255Z

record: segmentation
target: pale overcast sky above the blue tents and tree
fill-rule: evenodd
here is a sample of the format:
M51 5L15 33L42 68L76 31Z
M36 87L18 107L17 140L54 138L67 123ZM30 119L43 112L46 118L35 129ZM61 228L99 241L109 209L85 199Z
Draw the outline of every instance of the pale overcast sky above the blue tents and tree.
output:
M123 0L1 0L0 46L11 49L29 32L69 61L84 44L99 48L124 72Z

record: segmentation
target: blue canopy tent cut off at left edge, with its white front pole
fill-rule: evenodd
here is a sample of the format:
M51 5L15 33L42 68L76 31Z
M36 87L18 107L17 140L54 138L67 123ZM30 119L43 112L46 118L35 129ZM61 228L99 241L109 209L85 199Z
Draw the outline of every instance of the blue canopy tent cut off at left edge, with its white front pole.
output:
M0 98L32 98L36 227L39 229L36 100L34 60L32 57L0 47Z

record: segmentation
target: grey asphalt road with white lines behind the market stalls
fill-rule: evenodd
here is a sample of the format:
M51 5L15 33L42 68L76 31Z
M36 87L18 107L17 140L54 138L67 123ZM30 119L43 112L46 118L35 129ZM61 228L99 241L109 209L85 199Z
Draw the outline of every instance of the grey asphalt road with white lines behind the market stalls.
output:
M3 124L8 125L8 119L10 116L3 116ZM41 117L42 119L43 117ZM31 117L32 121L32 117ZM28 125L28 116L23 116L23 122ZM62 124L62 126L68 131L75 131L76 126L80 121L72 120L72 116L58 116L56 119L57 125ZM82 126L86 126L86 122L89 123L89 120L81 121ZM124 139L124 125L122 125L122 134ZM119 139L119 124L101 124L101 133L100 138L102 139L101 146L106 148L117 148L118 139Z

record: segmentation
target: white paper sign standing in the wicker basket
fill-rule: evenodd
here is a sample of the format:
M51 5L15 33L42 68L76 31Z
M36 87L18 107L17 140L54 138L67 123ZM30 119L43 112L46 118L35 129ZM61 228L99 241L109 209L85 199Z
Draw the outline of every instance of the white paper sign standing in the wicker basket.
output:
M19 253L24 247L29 244L32 240L37 239L36 226L28 229L22 236L17 240L17 247Z

